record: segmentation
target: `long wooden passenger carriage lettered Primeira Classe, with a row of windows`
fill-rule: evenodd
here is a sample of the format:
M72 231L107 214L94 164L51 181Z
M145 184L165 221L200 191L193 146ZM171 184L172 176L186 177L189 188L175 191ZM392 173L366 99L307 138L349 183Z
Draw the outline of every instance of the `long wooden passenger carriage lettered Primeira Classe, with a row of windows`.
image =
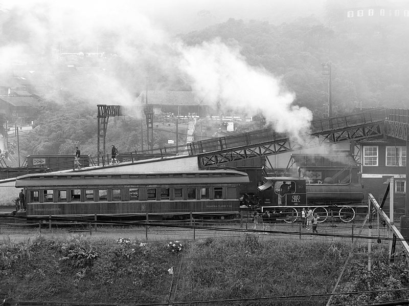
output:
M228 215L239 211L239 184L248 176L235 170L152 173L54 172L16 179L25 188L27 216L183 217ZM151 216L149 216L151 218Z

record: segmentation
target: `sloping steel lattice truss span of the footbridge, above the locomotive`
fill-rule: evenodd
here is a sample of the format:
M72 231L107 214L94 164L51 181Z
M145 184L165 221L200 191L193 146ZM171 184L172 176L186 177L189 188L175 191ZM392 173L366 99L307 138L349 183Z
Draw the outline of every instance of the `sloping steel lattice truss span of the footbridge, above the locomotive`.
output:
M328 117L311 122L308 137L302 141L275 133L272 129L255 130L232 136L212 138L188 145L189 155L196 155L200 168L228 162L264 157L328 142L358 140L384 134L385 109L376 108L350 115Z

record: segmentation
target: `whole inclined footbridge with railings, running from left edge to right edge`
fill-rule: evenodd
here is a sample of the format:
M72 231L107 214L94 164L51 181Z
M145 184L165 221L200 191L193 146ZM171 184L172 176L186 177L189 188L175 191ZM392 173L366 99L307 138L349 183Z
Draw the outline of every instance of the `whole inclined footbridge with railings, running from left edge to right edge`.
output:
M124 163L146 164L165 159L194 158L197 160L198 168L203 169L237 160L281 154L303 147L320 146L328 142L359 140L381 135L407 140L409 108L373 108L352 114L315 119L311 122L310 130L305 132L310 137L303 137L300 141L289 138L287 134L276 133L270 128L265 128L180 146L127 152L120 154L119 159L122 162L121 165L124 165ZM87 164L89 168L111 167L109 160L109 156L88 157ZM67 166L67 162L64 162L64 169L73 169L74 163L68 164ZM3 169L0 173L1 180L32 172L60 170L61 165L56 164L48 168L25 166L13 169L3 165L0 169Z

